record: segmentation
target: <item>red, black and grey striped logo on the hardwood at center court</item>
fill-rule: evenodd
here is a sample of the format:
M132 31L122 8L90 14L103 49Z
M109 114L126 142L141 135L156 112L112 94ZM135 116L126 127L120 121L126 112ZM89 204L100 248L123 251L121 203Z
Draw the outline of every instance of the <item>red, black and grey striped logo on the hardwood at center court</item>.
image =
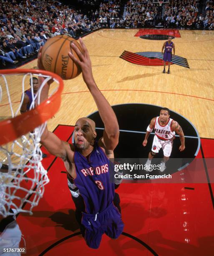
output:
M142 66L164 66L164 54L159 51L144 51L136 53L131 51L123 51L120 58L133 64ZM171 64L176 64L189 69L187 59L177 55L172 55Z

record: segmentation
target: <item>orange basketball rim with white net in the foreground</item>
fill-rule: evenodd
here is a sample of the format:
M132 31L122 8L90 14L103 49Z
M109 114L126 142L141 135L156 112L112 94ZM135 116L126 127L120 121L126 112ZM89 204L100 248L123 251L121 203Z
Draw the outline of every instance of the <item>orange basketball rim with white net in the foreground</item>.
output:
M20 90L16 98L14 93L10 94L11 77L20 81L20 84L16 84L17 90ZM43 77L43 82L35 94L33 77ZM46 121L60 107L63 81L56 74L35 69L0 70L0 79L0 113L2 115L1 108L4 108L7 117L10 116L0 121L0 215L5 218L14 215L10 209L14 209L16 213L32 214L33 207L43 197L44 186L49 179L41 163L43 158L39 142ZM50 96L40 102L41 91L50 79L54 81L53 90L51 85ZM24 93L30 85L30 110L20 115Z

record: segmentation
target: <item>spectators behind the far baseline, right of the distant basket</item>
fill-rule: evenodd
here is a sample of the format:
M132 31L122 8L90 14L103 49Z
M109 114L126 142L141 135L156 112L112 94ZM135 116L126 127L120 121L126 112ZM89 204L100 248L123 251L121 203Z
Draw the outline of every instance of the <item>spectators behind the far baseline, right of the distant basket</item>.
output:
M206 16L199 14L199 0L172 0L165 5L164 28L213 29L213 2L207 1Z

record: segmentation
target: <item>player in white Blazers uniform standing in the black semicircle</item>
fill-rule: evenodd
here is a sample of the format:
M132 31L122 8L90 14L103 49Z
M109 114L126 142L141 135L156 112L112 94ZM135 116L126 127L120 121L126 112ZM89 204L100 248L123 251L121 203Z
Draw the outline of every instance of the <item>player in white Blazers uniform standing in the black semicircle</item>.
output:
M175 133L179 134L181 141L181 146L179 147L179 150L183 151L185 149L185 138L183 130L176 121L169 118L169 114L170 111L168 108L162 108L160 116L152 118L149 126L146 129L146 136L143 141L143 146L145 147L147 144L147 139L154 129L155 136L151 152L149 152L149 158L146 161L146 165L149 166L151 164L151 159L162 148L164 151L164 159L161 161L160 172L164 172L164 170L166 169L165 163L169 160L169 156L171 155Z

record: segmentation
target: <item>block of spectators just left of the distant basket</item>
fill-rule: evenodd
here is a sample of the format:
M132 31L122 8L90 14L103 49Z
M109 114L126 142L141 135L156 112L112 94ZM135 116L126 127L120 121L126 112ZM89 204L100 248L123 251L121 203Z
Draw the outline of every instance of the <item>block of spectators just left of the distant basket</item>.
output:
M125 27L150 28L158 13L158 4L152 0L129 0L125 12Z

